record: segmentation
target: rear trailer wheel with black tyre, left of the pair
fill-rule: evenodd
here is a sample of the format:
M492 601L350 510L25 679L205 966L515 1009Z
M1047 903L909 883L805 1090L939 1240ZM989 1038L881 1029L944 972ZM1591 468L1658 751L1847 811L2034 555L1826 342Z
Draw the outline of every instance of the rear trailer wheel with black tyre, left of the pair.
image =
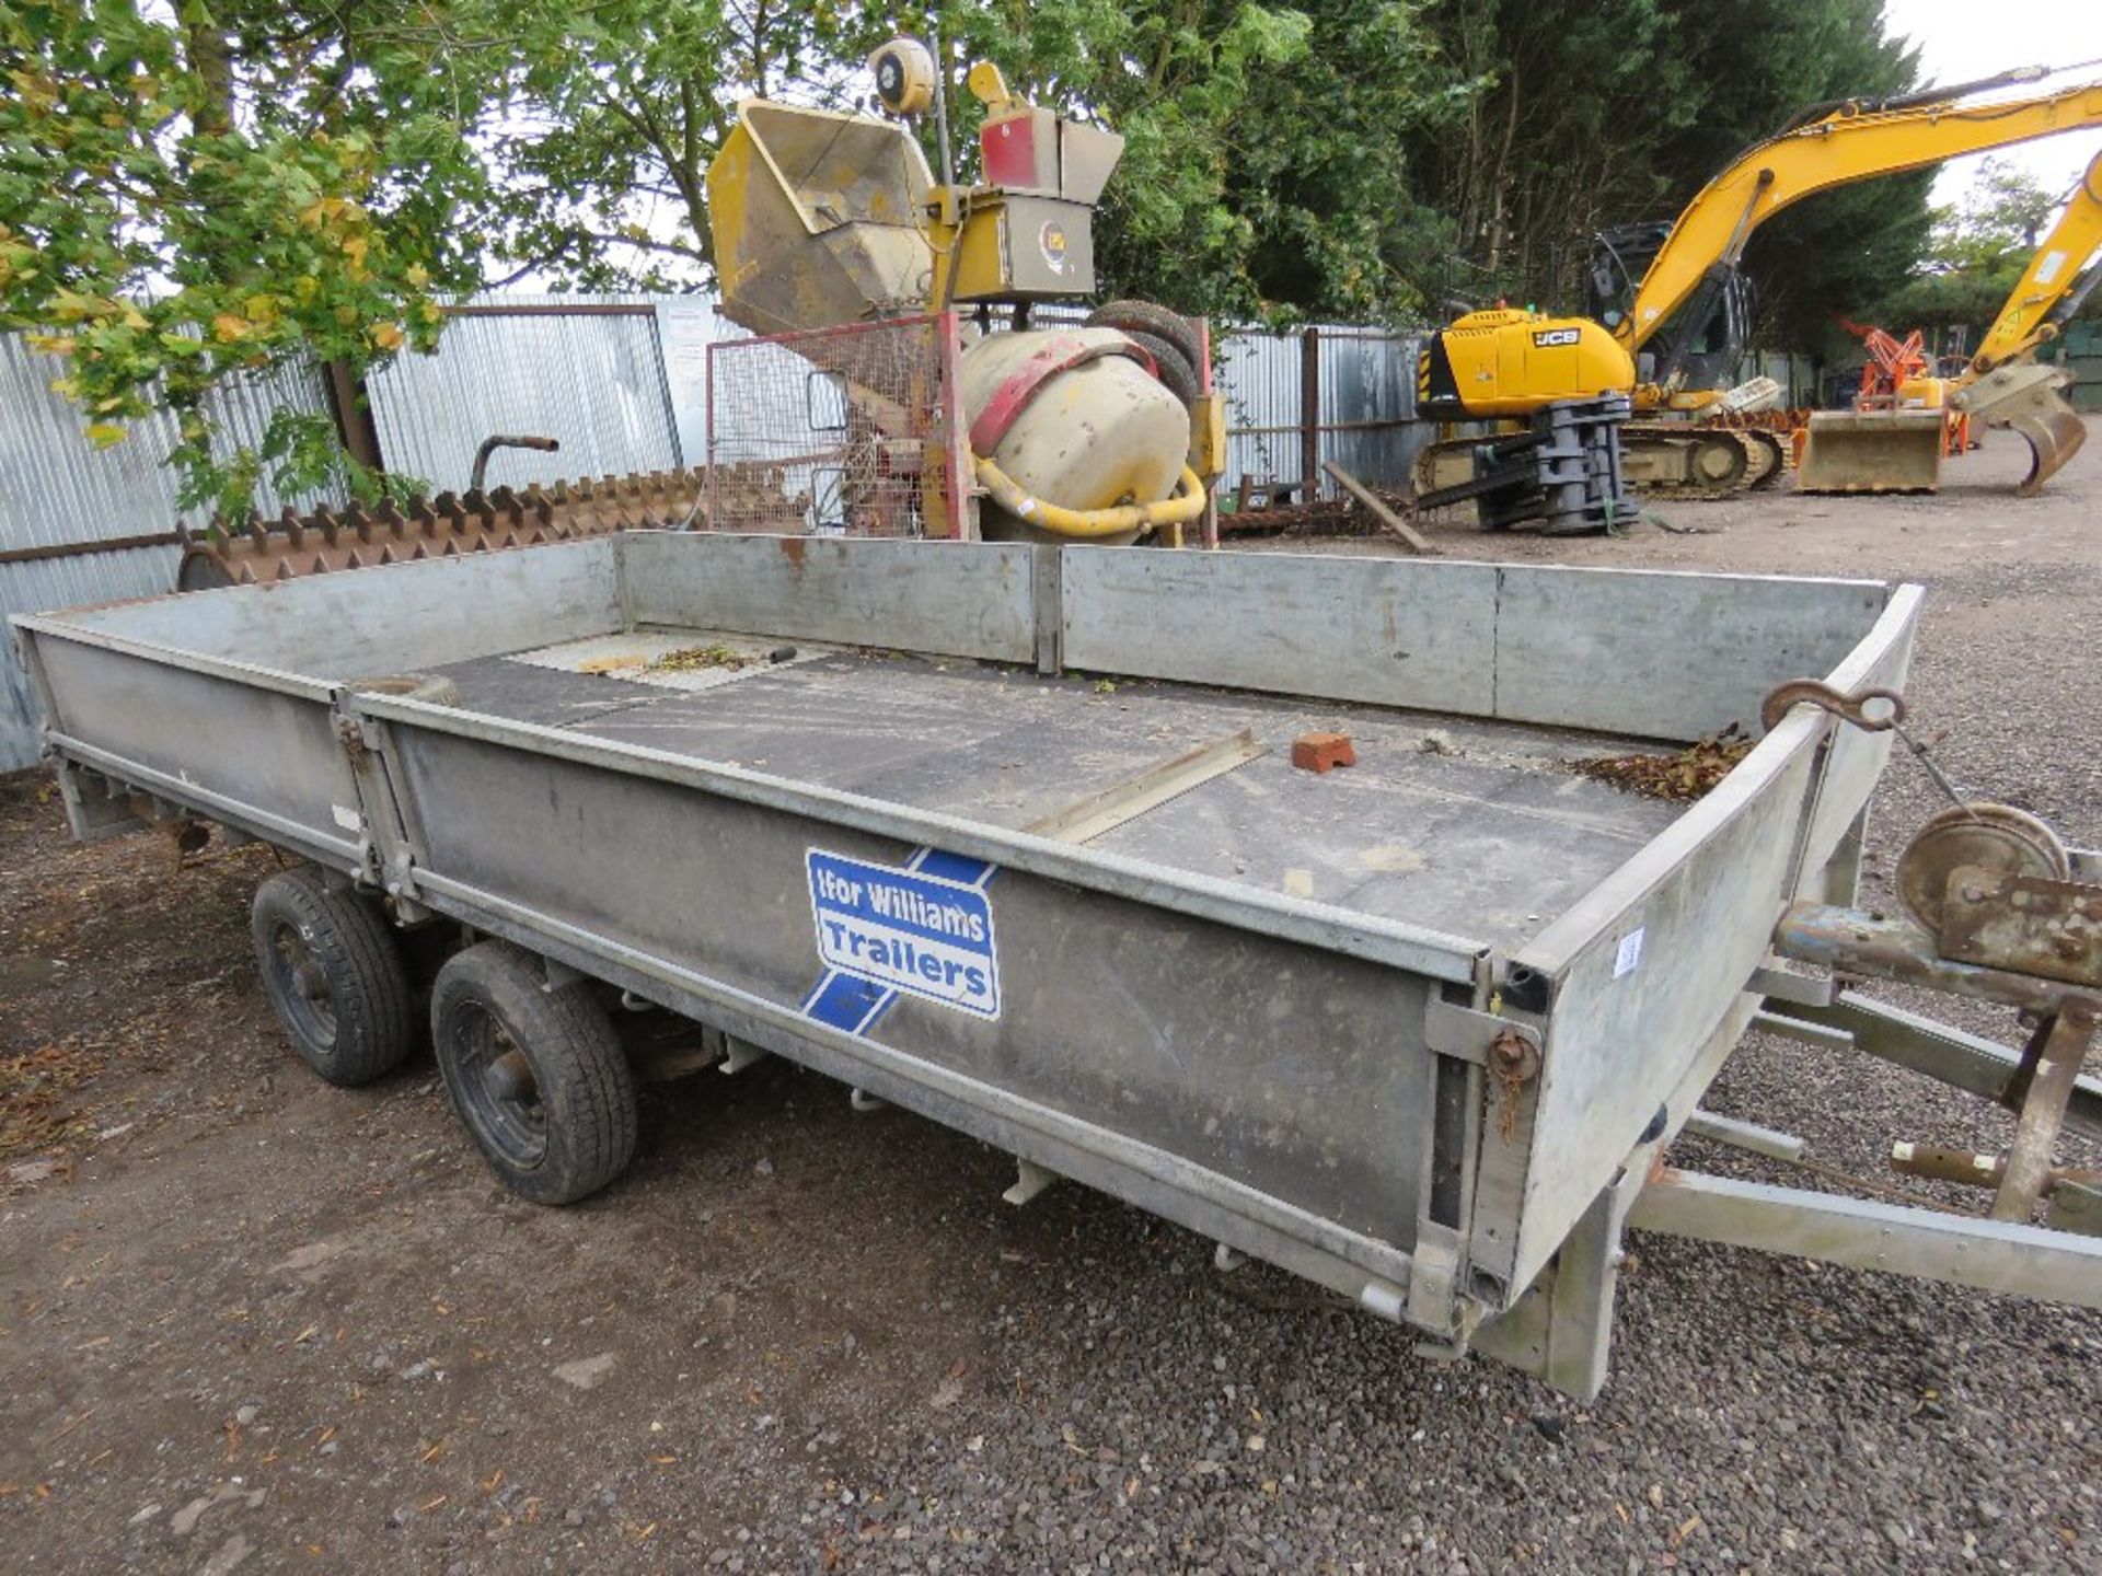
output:
M408 967L387 916L313 866L256 887L263 990L298 1055L343 1088L370 1084L416 1046Z

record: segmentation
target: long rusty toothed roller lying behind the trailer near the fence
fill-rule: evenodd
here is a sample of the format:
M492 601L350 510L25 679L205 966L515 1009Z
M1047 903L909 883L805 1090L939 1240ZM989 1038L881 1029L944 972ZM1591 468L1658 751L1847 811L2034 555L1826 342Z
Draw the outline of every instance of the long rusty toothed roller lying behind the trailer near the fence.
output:
M765 485L765 477L740 481ZM717 506L736 509L736 492L731 488L725 494L723 477L717 477ZM269 584L332 569L574 542L624 530L677 530L694 521L702 494L702 471L654 471L559 481L553 488L534 483L523 492L441 492L429 500L410 498L399 509L391 502L370 511L322 509L311 515L288 509L271 521L214 521L210 532L191 536L183 546L177 590Z

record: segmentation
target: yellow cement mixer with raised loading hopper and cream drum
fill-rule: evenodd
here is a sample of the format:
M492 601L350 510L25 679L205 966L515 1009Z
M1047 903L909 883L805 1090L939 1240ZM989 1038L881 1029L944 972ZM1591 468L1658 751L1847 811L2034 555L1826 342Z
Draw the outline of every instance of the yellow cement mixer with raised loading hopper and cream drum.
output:
M948 122L931 55L912 40L870 61L898 120L750 99L708 168L721 311L767 336L975 307L954 366L977 536L1181 542L1219 477L1225 431L1202 324L1110 303L1080 328L1026 328L1028 309L1095 290L1093 208L1122 139L1013 95L998 67L967 78L986 105L986 181L927 166L906 120ZM1011 332L990 311L1015 313ZM883 424L868 336L790 340ZM969 502L969 509L959 504ZM973 532L963 532L973 534Z

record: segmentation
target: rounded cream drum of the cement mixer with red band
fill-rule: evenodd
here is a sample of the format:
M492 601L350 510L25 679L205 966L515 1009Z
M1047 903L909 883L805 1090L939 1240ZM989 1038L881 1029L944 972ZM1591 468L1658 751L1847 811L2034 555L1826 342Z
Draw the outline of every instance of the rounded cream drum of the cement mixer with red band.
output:
M986 334L956 364L971 452L1032 498L1114 509L1169 498L1190 456L1190 412L1114 328ZM988 540L1062 540L988 500ZM1104 546L1137 532L1091 538Z

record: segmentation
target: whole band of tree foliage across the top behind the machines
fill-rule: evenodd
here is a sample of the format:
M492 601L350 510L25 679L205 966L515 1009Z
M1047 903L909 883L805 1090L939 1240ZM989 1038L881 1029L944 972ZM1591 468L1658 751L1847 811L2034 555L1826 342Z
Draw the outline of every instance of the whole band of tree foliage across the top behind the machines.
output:
M368 372L486 282L710 284L738 99L860 107L898 32L940 40L961 177L963 69L990 59L1125 137L1104 288L1242 322L1574 307L1593 231L1915 71L1881 0L0 0L0 326L67 357L95 441L170 408L187 500L311 485L343 469L328 424L214 452L214 382L303 353ZM1766 336L1888 292L1923 191L1761 231Z

